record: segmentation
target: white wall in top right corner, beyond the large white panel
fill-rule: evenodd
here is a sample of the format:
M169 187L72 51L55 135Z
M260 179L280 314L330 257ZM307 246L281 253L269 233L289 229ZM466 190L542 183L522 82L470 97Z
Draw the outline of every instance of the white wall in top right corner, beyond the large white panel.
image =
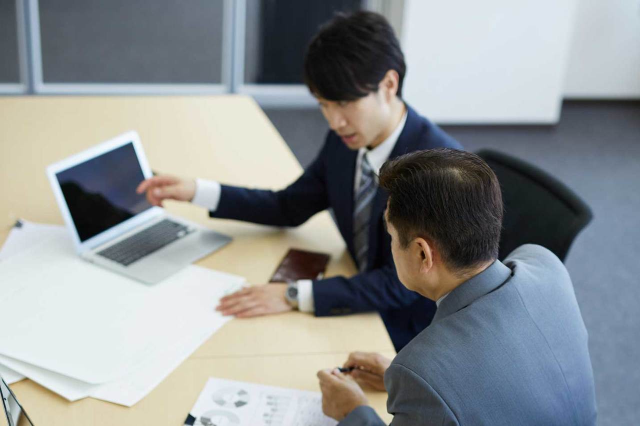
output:
M564 94L640 98L640 0L579 1Z

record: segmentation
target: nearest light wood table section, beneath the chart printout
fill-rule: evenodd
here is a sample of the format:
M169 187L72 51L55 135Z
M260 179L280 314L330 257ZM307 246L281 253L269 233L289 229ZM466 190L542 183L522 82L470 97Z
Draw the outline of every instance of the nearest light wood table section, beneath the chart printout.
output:
M394 356L393 351L383 352ZM36 426L68 425L176 425L182 422L209 377L319 391L316 372L342 365L348 353L189 358L176 368L146 398L131 408L93 398L73 403L30 381L11 388L27 408ZM369 403L383 420L387 413L387 393L365 390Z

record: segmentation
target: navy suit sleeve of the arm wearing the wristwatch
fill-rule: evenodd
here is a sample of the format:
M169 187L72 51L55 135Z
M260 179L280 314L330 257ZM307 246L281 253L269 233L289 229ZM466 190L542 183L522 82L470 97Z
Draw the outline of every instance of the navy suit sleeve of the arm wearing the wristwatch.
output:
M420 297L398 280L393 264L351 278L337 276L316 280L313 294L318 317L394 310L404 308Z

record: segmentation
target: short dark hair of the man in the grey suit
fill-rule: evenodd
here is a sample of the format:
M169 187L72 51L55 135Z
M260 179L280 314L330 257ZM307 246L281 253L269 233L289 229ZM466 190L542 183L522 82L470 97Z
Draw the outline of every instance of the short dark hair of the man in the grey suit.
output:
M476 154L436 148L385 162L387 220L403 248L416 237L435 244L454 271L495 260L502 229L502 193L493 170Z

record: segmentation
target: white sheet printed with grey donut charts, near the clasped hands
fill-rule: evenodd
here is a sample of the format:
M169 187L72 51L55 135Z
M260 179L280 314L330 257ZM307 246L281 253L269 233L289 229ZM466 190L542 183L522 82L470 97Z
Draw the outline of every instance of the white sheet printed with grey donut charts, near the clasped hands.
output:
M335 426L319 392L211 378L185 425Z

